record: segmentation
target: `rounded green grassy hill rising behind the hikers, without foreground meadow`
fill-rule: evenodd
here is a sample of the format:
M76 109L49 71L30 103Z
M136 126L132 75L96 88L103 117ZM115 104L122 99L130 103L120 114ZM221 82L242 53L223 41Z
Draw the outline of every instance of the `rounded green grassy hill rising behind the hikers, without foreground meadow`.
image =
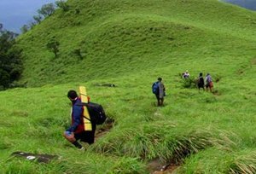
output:
M20 37L26 64L22 82L29 86L113 78L179 62L196 73L212 72L221 69L219 64L234 69L253 59L255 14L215 0L69 5L68 12L56 11ZM53 37L60 42L57 58L46 48ZM226 66L230 61L234 65Z

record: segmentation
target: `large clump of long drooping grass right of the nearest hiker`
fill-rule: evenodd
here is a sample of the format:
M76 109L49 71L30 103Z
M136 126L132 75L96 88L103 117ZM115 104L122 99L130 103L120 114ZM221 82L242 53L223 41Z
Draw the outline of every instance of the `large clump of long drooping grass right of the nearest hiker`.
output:
M189 154L195 154L201 149L214 146L229 148L234 144L227 135L228 132L177 126L172 122L137 125L133 129L126 128L111 134L97 142L92 150L142 160L160 158L166 163L171 160L179 163Z

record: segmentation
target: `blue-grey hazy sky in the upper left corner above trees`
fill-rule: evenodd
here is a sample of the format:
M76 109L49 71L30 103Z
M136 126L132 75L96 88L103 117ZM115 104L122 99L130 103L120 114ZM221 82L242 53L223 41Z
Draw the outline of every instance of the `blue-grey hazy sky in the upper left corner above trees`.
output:
M42 5L54 2L55 0L0 0L0 23L9 31L20 32L20 27L29 24Z

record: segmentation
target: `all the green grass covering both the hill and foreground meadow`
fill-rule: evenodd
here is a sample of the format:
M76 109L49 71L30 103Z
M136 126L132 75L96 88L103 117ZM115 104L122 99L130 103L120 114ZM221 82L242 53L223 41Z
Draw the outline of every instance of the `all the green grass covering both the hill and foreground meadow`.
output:
M256 172L255 12L215 0L68 4L18 40L28 88L0 93L0 173ZM53 37L57 58L46 49ZM213 94L184 88L186 69L211 73ZM151 93L159 76L165 107ZM108 83L117 87L98 85ZM84 153L61 136L67 90L79 84L115 119ZM41 165L15 151L61 159Z

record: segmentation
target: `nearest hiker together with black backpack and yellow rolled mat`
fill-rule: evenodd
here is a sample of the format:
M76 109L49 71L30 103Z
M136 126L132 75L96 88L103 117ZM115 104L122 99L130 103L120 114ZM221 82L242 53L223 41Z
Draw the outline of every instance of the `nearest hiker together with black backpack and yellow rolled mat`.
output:
M85 89L85 88L84 88ZM94 143L96 125L102 125L106 115L101 105L90 102L88 96L78 96L75 90L69 90L67 97L72 102L72 125L64 132L68 142L81 150L84 147L78 142ZM85 98L85 100L83 100Z

